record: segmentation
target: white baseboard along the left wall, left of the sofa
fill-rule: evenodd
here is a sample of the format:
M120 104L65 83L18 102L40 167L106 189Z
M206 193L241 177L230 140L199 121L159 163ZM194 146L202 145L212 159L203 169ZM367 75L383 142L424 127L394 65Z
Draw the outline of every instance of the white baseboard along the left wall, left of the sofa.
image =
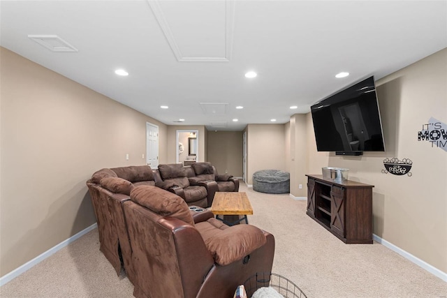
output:
M90 225L88 228L85 228L84 230L78 232L77 234L74 234L72 237L62 241L61 243L57 244L56 246L53 246L49 250L45 251L45 253L41 253L41 255L38 255L33 260L30 260L29 262L26 262L24 265L18 267L17 269L10 271L8 274L1 276L0 277L0 287L2 285L6 285L6 283L9 283L14 278L16 278L20 274L24 273L24 271L27 271L28 269L31 269L31 267L36 266L38 263L40 263L43 260L45 260L46 258L50 257L50 255L56 253L57 251L59 251L61 248L64 248L68 244L71 244L71 242L73 242L76 239L78 239L79 237L87 234L88 232L90 232L91 230L96 228L97 226L98 226L97 223Z

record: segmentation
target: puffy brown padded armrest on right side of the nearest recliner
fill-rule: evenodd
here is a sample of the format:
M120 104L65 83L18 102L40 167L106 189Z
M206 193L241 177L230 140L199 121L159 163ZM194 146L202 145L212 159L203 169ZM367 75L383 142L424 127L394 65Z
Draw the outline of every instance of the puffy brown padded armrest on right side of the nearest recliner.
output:
M224 266L242 260L266 241L263 231L254 225L233 225L225 230L216 229L205 245L214 261Z

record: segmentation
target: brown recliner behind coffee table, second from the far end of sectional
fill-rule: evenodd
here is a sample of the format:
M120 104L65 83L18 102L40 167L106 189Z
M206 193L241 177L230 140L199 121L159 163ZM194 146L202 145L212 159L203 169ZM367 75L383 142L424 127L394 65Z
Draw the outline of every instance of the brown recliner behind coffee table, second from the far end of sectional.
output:
M190 167L179 163L160 164L156 173L156 186L183 198L188 205L210 207L217 191L213 181L193 181ZM159 177L158 177L159 175Z

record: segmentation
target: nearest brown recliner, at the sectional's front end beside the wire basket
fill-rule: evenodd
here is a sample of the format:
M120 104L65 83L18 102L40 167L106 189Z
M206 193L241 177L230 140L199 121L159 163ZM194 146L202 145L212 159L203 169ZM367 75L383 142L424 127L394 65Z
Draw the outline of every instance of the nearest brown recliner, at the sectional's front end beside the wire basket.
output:
M272 269L272 234L228 227L210 211L194 223L186 202L161 188L133 188L123 210L135 297L233 297L237 285Z

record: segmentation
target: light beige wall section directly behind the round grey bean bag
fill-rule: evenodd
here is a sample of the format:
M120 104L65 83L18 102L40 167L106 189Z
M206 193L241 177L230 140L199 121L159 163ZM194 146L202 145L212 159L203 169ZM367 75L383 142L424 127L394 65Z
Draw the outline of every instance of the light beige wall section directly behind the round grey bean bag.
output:
M249 124L247 131L247 184L258 170L286 170L285 124Z

